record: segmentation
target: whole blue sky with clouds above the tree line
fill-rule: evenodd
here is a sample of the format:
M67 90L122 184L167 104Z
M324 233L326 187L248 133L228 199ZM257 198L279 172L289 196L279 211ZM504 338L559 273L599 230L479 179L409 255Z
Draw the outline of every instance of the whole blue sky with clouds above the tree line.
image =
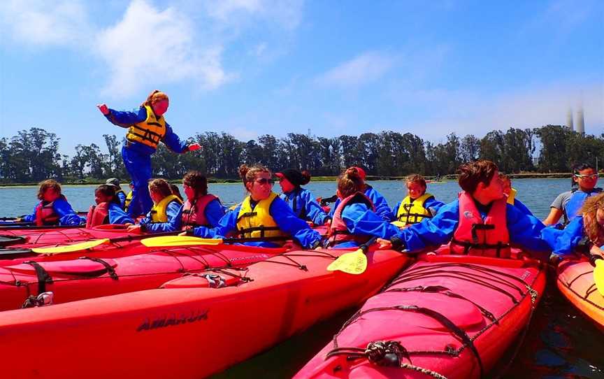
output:
M426 5L427 4L427 5ZM181 137L564 124L604 133L602 1L4 1L0 137L104 147L96 109L171 99Z

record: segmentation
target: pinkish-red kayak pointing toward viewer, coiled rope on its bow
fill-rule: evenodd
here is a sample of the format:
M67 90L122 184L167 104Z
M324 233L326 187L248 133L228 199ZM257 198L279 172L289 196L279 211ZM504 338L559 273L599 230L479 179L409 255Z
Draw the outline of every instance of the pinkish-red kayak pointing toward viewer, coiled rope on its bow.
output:
M441 250L442 251L442 250ZM545 289L533 260L427 255L348 320L296 378L480 378Z

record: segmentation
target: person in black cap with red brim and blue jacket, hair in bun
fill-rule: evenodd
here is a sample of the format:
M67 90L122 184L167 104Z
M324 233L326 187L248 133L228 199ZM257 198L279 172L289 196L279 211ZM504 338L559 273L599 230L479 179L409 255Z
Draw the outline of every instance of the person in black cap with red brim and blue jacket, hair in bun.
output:
M310 173L308 171L298 171L294 169L283 170L275 173L279 178L281 186L281 199L285 200L287 205L292 207L294 213L304 221L310 221L315 225L322 225L331 220L331 217L325 213L323 208L315 200L309 190L302 188L302 185L310 182Z

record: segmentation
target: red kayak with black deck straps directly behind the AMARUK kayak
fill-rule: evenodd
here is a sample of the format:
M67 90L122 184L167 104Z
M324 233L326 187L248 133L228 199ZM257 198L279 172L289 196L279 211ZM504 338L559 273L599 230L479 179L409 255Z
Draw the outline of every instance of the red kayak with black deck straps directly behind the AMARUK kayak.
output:
M285 249L242 245L150 249L138 244L131 252L139 253L113 259L80 253L79 259L1 266L0 310L36 306L48 297L42 295L45 292L52 292L52 303L66 303L157 288L182 273L248 266Z

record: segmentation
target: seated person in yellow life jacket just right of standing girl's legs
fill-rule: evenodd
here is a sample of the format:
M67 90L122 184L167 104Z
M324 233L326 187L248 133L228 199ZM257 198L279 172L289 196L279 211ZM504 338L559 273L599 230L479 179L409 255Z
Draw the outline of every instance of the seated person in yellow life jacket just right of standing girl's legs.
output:
M170 183L164 179L153 179L149 183L153 208L138 225L129 225L128 231L160 233L180 229L182 201L172 194Z

